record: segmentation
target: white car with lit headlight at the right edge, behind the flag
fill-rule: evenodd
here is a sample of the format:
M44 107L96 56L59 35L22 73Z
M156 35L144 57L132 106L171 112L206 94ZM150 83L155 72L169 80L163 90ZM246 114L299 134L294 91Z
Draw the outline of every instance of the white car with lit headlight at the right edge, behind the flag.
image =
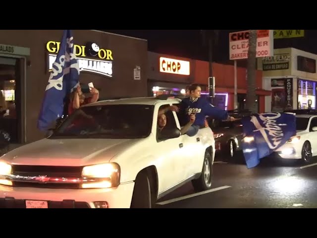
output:
M317 155L317 116L296 115L296 136L275 152L283 159L300 159L310 163Z

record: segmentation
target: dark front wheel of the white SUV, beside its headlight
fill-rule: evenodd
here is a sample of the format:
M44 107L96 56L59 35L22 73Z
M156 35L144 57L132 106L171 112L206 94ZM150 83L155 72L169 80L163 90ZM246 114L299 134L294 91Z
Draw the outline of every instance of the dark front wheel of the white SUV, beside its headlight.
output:
M141 171L135 179L131 208L152 208L151 183L146 171Z

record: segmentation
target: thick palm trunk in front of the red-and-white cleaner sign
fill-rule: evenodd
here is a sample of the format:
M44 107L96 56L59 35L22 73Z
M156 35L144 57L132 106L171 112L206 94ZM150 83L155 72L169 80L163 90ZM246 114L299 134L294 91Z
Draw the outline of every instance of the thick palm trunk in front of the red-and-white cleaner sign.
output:
M256 113L257 95L256 95L256 51L257 51L257 34L258 30L250 30L249 49L247 61L247 96L246 106L249 111Z

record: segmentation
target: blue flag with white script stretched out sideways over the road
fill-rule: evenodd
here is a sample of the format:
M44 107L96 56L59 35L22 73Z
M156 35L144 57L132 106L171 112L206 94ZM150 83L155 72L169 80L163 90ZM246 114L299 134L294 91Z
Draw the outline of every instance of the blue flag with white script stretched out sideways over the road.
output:
M288 113L262 113L241 119L242 150L248 169L270 155L296 134L296 118Z

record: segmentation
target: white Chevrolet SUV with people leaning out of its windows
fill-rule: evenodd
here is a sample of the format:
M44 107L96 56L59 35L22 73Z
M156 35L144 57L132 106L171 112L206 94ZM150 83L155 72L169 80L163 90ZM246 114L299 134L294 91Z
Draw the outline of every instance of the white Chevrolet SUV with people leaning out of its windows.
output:
M157 138L160 107L179 103L130 98L83 106L48 138L0 157L0 207L151 208L188 181L210 189L210 127L180 135L169 111Z

